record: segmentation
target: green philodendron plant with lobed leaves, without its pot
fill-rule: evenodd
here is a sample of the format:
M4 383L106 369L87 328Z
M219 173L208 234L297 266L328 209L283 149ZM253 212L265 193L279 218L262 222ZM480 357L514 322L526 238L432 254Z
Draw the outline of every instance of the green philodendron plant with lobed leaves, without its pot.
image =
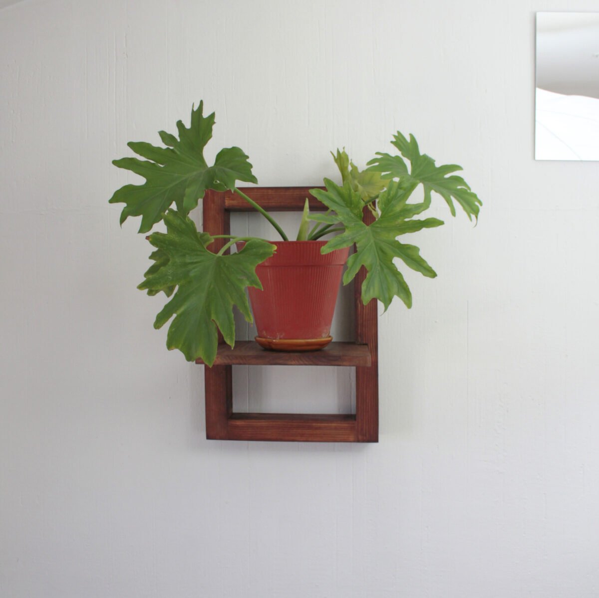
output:
M191 113L189 128L177 122L179 138L160 131L166 147L145 142L129 142L139 156L114 160L113 164L141 175L146 182L128 184L117 190L111 204L125 204L121 224L129 216L141 216L140 233L164 221L167 232L153 232L147 239L155 251L150 255L153 265L144 274L138 289L148 295L164 292L171 299L156 316L155 328L160 328L174 315L167 335L167 347L181 350L187 360L201 357L212 365L216 357L217 333L233 347L235 324L233 306L240 309L247 321L252 321L246 287L261 288L256 266L270 257L275 246L265 239L226 237L227 242L217 253L210 251L216 236L199 232L189 213L198 205L207 189L231 190L245 199L273 225L283 241L288 238L273 217L237 188L238 181L258 183L252 174L248 156L238 147L219 151L212 166L208 166L203 151L212 136L214 113L202 116L202 102ZM395 258L429 278L437 274L420 256L415 245L397 241L397 237L425 228L441 226L437 218L416 218L431 205L432 192L440 195L455 215L457 202L472 220L478 216L480 199L463 178L452 174L461 170L455 164L436 166L435 161L421 154L416 139L407 139L400 132L391 144L399 154L377 152L366 168L360 171L346 152L333 154L341 172L341 184L325 178L324 189L313 189L327 210L310 213L306 201L297 239L316 240L335 234L322 248L322 253L354 245L347 260L343 283L353 280L361 266L367 271L362 284L362 301L379 299L389 307L394 296L407 307L412 306L412 294L397 269ZM409 162L409 165L406 163ZM422 201L412 201L412 193L422 185ZM374 216L371 224L362 220L364 208ZM310 222L314 224L310 226ZM246 241L238 253L226 254L237 241Z

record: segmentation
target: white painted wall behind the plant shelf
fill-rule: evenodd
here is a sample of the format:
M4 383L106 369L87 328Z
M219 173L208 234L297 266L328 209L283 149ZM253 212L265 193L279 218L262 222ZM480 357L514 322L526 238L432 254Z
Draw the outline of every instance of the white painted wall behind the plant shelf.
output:
M563 8L0 10L2 598L599 595L599 165L533 160L534 10ZM204 439L202 369L165 351L107 204L126 141L201 98L210 151L262 184L401 129L485 202L419 235L440 275L380 317L379 444Z

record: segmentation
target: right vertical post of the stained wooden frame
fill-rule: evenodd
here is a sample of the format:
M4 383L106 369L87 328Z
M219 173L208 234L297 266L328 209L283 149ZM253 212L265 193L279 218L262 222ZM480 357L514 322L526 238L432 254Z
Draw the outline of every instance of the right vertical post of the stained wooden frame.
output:
M364 221L374 221L369 210L364 210ZM370 367L356 368L356 421L358 423L358 442L379 441L379 306L376 299L368 305L362 303L362 283L367 271L362 266L354 281L354 299L356 306L356 343L367 345L370 349Z

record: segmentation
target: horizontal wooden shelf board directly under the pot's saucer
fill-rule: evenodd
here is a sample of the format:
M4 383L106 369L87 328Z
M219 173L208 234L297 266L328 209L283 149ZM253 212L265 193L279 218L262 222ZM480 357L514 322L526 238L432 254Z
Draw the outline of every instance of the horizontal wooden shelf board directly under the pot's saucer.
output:
M204 363L197 359L196 363ZM320 351L266 351L254 341L235 341L235 347L219 345L214 365L317 365L370 366L367 345L331 342Z

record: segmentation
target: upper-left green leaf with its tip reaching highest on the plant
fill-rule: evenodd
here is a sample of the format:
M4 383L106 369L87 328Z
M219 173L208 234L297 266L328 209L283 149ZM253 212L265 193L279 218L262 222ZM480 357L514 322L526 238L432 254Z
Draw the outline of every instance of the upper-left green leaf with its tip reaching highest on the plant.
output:
M129 142L128 146L146 160L113 160L115 166L146 179L141 185L121 187L110 199L111 204L125 204L121 224L129 216L141 216L139 232L148 232L173 202L177 210L187 214L198 205L206 189L232 190L236 181L258 182L246 154L238 147L220 150L214 165L207 165L204 147L212 137L214 113L202 116L203 106L204 103L199 102L198 108L192 108L189 128L177 122L179 139L165 131L159 132L166 148Z

